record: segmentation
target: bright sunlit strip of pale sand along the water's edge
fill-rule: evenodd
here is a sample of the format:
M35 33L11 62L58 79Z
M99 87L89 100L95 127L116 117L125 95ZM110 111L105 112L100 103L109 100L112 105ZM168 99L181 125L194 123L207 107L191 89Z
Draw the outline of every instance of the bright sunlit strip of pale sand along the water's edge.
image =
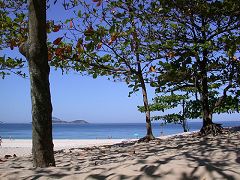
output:
M240 131L240 127L228 127L225 130ZM193 136L199 131L182 132L156 137L158 140L184 138ZM92 148L107 145L135 143L138 139L53 139L54 152L69 151L76 148ZM32 139L2 139L0 146L0 159L5 155L26 157L32 155Z

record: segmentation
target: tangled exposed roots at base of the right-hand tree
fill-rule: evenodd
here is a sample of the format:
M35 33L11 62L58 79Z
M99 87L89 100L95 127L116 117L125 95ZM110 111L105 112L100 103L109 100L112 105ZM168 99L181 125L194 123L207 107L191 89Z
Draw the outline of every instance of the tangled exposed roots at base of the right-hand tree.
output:
M201 136L207 136L207 135L218 135L223 133L223 127L221 124L208 124L207 126L204 126L200 130Z

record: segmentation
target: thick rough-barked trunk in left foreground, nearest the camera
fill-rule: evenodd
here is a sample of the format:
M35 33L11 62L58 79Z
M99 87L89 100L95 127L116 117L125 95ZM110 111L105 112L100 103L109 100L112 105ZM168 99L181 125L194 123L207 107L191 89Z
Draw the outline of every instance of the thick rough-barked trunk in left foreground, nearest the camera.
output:
M29 0L27 59L31 79L32 154L34 167L55 166L52 104L49 88L46 0Z

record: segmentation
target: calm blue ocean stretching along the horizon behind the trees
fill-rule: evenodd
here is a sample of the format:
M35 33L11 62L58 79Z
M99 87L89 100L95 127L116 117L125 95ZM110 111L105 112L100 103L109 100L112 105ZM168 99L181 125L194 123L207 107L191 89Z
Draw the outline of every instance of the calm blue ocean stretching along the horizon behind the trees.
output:
M224 127L240 126L240 121L218 121ZM180 124L153 123L154 136L182 133ZM189 121L190 131L201 128L202 122ZM132 139L146 134L145 123L53 124L54 139ZM31 139L32 124L0 124L0 136L12 139Z

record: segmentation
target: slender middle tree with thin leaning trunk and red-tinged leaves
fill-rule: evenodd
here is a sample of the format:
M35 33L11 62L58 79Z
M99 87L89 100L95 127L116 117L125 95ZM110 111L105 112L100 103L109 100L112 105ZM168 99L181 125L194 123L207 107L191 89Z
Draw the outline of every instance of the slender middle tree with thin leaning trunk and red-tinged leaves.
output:
M80 73L86 71L93 78L106 75L114 81L125 81L131 88L129 95L141 89L146 122L150 124L145 83L157 75L155 64L162 55L145 35L149 27L140 15L149 2L96 1L88 4L78 1L77 5L80 8L75 11L76 17L69 19L71 24L62 23L62 28L69 30L64 37L68 42L59 37L49 44L50 63ZM71 47L71 52L67 47ZM151 125L148 127L147 138L151 139Z

